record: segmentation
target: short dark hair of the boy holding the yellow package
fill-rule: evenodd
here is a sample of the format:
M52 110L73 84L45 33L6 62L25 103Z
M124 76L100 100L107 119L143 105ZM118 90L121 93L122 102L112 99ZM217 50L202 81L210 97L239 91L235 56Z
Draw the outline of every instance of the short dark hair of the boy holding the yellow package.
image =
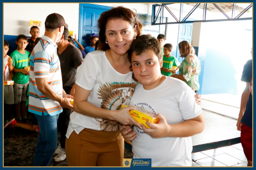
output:
M138 36L131 44L131 48L128 50L129 62L132 60L132 53L135 52L136 55L141 55L147 50L152 50L158 57L159 62L163 60L163 52L161 45L156 38L152 37L150 34ZM132 66L130 67L132 71ZM134 74L132 73L132 79L136 82Z

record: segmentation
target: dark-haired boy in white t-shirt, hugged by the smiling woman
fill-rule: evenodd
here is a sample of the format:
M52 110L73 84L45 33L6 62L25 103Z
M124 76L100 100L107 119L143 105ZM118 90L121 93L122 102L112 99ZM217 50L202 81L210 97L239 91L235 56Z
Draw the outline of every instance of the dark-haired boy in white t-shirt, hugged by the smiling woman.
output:
M134 159L152 159L152 166L191 166L191 136L204 130L202 109L195 92L172 77L161 75L161 47L150 34L137 37L129 50L134 77L139 82L130 105L144 108L160 119L146 122L150 129L124 125L124 139L132 141ZM161 113L161 114L157 114Z

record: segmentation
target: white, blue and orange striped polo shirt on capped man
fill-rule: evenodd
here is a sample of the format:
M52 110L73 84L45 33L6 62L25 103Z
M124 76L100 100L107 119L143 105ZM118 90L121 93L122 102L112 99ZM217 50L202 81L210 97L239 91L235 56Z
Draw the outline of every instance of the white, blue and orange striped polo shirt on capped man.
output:
M35 78L47 78L47 83L51 85L60 96L62 96L62 79L60 60L57 55L57 45L47 36L36 44L31 52L29 60L29 107L28 111L36 115L57 115L62 112L62 107L57 101L52 101L37 89Z

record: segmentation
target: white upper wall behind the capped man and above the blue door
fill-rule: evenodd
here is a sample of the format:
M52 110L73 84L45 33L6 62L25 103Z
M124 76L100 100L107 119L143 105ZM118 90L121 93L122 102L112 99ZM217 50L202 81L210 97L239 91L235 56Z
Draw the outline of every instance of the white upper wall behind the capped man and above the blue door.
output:
M93 3L104 6L125 6L135 8L138 13L148 14L148 4L145 3ZM36 11L40 6L40 10ZM151 7L152 8L152 7ZM31 9L31 10L29 10ZM29 34L30 20L42 21L40 35L44 35L44 22L47 15L60 13L68 24L69 31L78 33L79 3L4 3L4 35ZM151 11L150 13L151 14Z

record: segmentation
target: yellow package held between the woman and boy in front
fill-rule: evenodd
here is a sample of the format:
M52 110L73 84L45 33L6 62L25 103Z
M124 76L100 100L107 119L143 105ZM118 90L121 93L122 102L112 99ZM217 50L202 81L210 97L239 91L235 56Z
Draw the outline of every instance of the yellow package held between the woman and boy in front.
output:
M122 104L121 109L127 107L129 106ZM150 127L148 127L148 125L146 124L147 121L153 124L158 124L158 122L160 121L159 118L154 118L153 114L150 114L148 113L148 111L143 110L141 108L136 108L136 110L130 110L129 113L131 117L134 118L134 120L136 120L136 122L145 125L145 127L147 127L148 129L150 129Z

